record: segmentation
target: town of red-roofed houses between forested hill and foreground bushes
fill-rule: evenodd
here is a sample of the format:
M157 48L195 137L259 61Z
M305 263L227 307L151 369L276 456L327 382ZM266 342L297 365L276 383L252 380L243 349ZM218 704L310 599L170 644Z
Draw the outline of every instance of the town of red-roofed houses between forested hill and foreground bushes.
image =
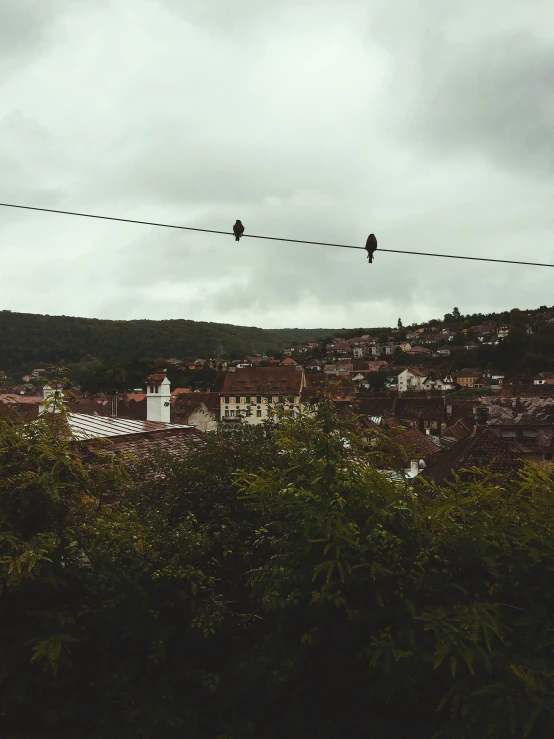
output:
M356 414L367 429L392 435L413 457L412 476L423 469L431 474L439 460L441 469L455 470L467 464L469 451L481 462L493 457L508 464L519 459L549 462L554 452L554 372L547 357L545 368L522 378L506 350L517 354L518 342L529 342L534 335L549 337L554 311L533 317L512 312L510 318L505 324L467 325L467 319L454 314L450 327L408 329L399 320L394 329L350 336L341 332L322 342L286 347L277 356L170 357L144 378L144 386L111 392L47 384L47 370L41 367L20 382L2 372L0 414L29 422L57 395L67 404L77 436L109 437L122 449L140 449L142 454L148 439L179 449L181 437L186 437L186 447L195 435L258 425L280 411L309 413L325 391L337 408ZM496 367L494 361L483 361L495 351ZM498 368L502 352L508 357L506 371ZM219 386L175 386L175 373L215 379Z

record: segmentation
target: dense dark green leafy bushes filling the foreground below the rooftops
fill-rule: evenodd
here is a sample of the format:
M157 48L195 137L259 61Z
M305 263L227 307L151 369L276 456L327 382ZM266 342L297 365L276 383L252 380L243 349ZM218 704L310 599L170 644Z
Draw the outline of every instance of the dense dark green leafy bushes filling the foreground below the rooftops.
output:
M132 467L63 423L0 418L2 737L554 735L552 468L413 495L328 401Z

